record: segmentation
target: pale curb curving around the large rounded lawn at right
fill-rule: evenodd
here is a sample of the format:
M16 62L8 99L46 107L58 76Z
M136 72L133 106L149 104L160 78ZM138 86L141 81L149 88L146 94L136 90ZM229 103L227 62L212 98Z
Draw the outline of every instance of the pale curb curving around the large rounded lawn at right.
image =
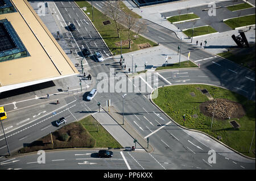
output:
M210 85L210 84L205 84L205 83L193 83L193 84L195 84L195 85L196 85L196 84ZM189 84L182 84L182 85L191 85L191 83L189 83ZM176 86L176 85L165 85L165 86L163 86L163 87L166 87L166 86ZM210 86L215 86L215 85L210 85ZM162 87L162 86L161 86L161 87ZM216 86L216 87L221 87L221 86ZM159 88L159 87L158 87L158 88ZM158 89L158 88L157 88L157 89ZM224 88L224 87L221 87L221 88L222 88L222 89L226 89L226 88ZM228 90L228 89L226 89L226 90ZM152 98L151 98L151 95L152 95L152 92L153 92L153 91L154 91L154 90L152 90L151 93L150 93L150 102L151 102L152 104L154 104L154 106L155 106L156 108L158 108L162 113L164 113L164 115L166 115L170 120L174 121L169 115L167 115L166 112L164 112L160 107L158 107L158 106L154 103L154 101L153 101ZM176 123L176 121L174 121L174 123L175 123L177 126L183 128L183 129L187 129L187 130L189 130L189 131L194 131L194 132L203 133L203 134L205 134L206 136L209 136L209 137L212 138L213 140L217 141L218 143L220 143L220 144L226 146L226 148L228 148L228 149L230 149L230 150L233 150L235 153L240 154L241 156L243 156L243 157L245 157L245 158L254 159L254 160L255 160L255 158L248 157L248 156L243 155L242 153L238 152L237 150L234 150L233 148L230 148L228 145L224 144L223 142L217 140L216 138L210 136L210 135L207 134L207 133L204 133L204 132L201 132L201 131L197 131L197 130L195 130L195 129L188 129L188 128L183 127L183 126L181 126L180 124Z

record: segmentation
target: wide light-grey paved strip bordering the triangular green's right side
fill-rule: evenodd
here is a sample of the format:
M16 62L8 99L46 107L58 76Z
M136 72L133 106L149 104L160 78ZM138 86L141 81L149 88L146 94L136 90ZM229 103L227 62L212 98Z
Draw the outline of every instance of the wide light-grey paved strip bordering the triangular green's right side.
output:
M105 110L107 109L105 108ZM127 129L124 129L122 125L119 125L120 123L118 121L115 121L113 117L110 116L112 113L108 113L105 110L101 109L101 112L97 112L92 116L123 146L123 148L131 149L132 146L135 146L134 138L129 134L130 132L127 131ZM110 108L110 110L114 112L113 107ZM138 142L141 143L138 137L136 138ZM136 149L143 149L143 147L137 143Z

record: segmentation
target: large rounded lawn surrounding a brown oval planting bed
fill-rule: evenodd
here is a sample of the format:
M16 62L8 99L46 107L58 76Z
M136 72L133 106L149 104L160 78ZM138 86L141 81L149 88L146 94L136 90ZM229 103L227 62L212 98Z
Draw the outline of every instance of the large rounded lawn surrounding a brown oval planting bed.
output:
M229 120L214 119L213 127L210 129L212 117L205 116L200 112L199 108L200 103L206 102L209 99L200 90L197 90L197 87L207 89L214 99L224 98L241 103L246 115L240 119L232 118L232 120L236 120L240 124L241 128L233 129L228 123ZM191 92L194 92L195 96L191 96ZM153 101L180 125L197 129L215 138L221 136L224 144L245 155L255 157L252 152L252 150L255 150L255 137L252 149L248 153L255 128L255 102L249 101L235 92L208 85L161 87L158 90L158 98L153 99ZM187 115L185 122L182 117L184 114ZM194 114L198 117L193 118L192 115Z

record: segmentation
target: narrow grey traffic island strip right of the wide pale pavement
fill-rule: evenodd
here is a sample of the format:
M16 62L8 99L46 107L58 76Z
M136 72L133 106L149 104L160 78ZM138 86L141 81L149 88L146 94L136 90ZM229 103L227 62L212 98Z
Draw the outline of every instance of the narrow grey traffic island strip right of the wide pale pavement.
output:
M104 109L107 110L106 108ZM108 112L108 111L106 111ZM108 114L123 128L125 131L130 134L131 137L134 138L134 144L137 142L137 144L141 145L144 150L147 152L154 151L154 148L148 144L147 140L144 139L141 134L139 134L131 125L127 122L126 119L123 119L121 112L118 112L115 107L110 106L110 112Z

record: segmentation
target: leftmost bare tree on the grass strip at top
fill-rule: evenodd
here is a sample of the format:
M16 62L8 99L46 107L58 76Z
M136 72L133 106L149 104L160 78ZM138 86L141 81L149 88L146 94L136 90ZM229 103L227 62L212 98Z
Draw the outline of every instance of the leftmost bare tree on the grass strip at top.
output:
M106 14L110 16L114 20L115 28L117 30L117 35L120 37L119 31L121 30L121 27L119 27L118 22L121 18L121 0L117 1L110 1L107 0L107 6L105 9Z

